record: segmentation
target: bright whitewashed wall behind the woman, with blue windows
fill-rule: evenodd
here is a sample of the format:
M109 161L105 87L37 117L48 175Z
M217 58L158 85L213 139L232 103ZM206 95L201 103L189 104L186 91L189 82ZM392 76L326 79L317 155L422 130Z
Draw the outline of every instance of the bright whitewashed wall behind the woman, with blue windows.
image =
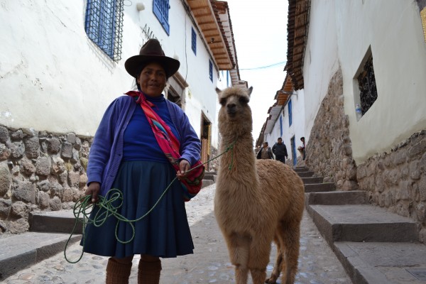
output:
M124 62L138 54L147 40L143 28L148 27L165 54L180 60L179 72L190 85L186 93L191 93L185 97L185 112L197 134L201 111L216 125L217 70L210 81L209 53L200 35L197 55L192 52L192 21L181 1L170 1L170 36L153 14L153 1L131 3L124 7L122 59L116 63L84 31L86 1L2 1L0 124L93 136L111 101L133 87ZM138 3L145 9L138 11ZM217 147L217 133L212 134Z

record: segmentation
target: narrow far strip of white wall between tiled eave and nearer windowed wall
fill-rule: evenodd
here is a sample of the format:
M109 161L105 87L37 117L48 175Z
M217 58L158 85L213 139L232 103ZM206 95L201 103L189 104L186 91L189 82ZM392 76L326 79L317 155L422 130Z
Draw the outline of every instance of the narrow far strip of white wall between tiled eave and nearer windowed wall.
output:
M315 117L322 99L327 94L329 80L339 67L335 31L334 1L311 1L309 33L303 62L305 143L309 141Z

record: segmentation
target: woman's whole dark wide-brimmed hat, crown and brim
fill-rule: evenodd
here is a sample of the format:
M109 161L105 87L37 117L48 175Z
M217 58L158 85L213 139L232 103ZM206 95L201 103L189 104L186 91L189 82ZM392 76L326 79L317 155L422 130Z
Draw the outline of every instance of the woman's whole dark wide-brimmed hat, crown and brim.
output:
M163 48L161 48L160 42L155 39L149 39L139 51L139 55L134 55L124 62L126 71L131 77L137 77L138 72L141 71L141 65L148 62L157 62L163 66L167 77L171 77L175 72L179 70L180 62L174 58L165 56Z

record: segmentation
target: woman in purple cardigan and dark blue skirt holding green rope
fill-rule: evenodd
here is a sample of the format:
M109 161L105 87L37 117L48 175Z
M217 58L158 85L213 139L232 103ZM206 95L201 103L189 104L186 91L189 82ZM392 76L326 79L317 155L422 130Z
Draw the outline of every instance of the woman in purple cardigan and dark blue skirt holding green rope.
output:
M141 254L138 283L159 283L160 257L192 253L194 245L185 211L185 200L200 190L204 167L200 165L200 139L185 113L164 98L168 77L178 71L180 62L166 57L158 40L151 39L125 62L126 71L136 79L138 91L114 100L102 118L89 153L87 191L92 203L111 188L122 192L118 212L131 224L108 217L102 226L89 224L84 234L84 251L111 256L107 283L129 283L134 254ZM165 189L175 177L166 194ZM200 180L197 180L200 179ZM114 202L118 206L120 200ZM91 217L104 209L95 206ZM91 218L91 219L92 219ZM116 233L117 231L117 233ZM117 234L117 238L116 238Z

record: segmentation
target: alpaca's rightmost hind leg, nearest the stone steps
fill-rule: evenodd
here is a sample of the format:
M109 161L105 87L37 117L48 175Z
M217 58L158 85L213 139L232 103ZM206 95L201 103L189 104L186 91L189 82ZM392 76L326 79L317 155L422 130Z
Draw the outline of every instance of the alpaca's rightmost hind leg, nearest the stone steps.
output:
M300 223L288 224L283 238L285 245L285 268L283 266L283 284L293 284L297 273L300 248Z

